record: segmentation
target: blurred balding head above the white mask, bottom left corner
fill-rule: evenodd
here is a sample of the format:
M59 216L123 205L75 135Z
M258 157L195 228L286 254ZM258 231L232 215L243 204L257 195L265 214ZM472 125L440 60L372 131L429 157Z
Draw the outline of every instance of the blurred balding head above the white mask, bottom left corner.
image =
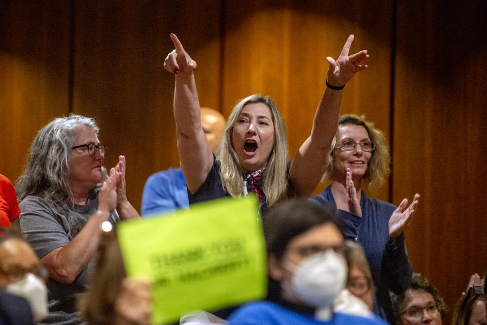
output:
M32 272L38 265L39 258L23 240L9 238L0 242L0 288L18 280L12 274Z

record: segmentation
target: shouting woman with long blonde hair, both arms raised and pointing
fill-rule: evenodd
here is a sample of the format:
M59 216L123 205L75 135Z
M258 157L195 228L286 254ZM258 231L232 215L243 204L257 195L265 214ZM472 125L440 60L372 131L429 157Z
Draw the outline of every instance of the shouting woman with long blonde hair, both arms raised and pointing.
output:
M268 97L251 95L240 101L230 114L220 143L213 155L200 124L198 92L194 81L196 62L186 53L176 35L175 50L164 68L175 75L174 116L178 151L189 203L254 192L262 208L286 197L309 197L327 165L336 129L341 89L355 73L367 66L363 50L348 55L354 36L345 43L340 56L329 62L327 87L315 113L311 135L288 163L288 144L283 118Z

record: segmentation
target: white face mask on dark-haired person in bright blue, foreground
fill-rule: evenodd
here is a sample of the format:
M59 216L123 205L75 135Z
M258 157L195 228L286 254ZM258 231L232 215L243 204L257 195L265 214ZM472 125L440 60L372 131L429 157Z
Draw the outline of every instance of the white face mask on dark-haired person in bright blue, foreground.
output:
M287 262L284 267L293 273L291 283L284 281L285 289L311 307L331 307L346 284L345 258L331 248L307 257L299 266Z

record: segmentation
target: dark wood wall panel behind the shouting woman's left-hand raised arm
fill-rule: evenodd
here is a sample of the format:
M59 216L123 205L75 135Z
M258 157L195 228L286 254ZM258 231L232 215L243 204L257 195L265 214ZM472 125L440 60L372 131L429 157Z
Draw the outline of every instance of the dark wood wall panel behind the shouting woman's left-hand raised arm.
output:
M179 166L174 77L163 68L173 49L169 34L177 33L195 60L209 62L198 67L197 83L206 89L202 104L218 108L219 9L218 3L76 2L73 110L97 118L107 167L126 156L127 197L137 210L147 178Z

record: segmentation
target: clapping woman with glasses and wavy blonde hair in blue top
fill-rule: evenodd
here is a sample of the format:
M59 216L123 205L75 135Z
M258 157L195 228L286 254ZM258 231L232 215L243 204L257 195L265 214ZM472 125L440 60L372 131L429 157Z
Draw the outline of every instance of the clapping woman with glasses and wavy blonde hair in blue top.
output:
M386 137L372 122L364 116L341 115L323 177L331 185L310 200L337 208L345 239L358 241L367 256L376 286L373 311L395 324L389 290L400 295L412 276L404 229L420 196L416 193L409 206L404 199L396 208L365 196L361 189L362 181L368 189L381 185L389 174L390 160Z

